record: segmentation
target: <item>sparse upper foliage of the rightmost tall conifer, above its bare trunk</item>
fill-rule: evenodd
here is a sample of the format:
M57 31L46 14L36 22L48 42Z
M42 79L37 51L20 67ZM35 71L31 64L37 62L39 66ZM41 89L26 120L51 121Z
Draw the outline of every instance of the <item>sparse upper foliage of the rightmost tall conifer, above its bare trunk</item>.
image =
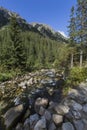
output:
M87 0L77 0L76 27L77 41L83 48L87 37Z

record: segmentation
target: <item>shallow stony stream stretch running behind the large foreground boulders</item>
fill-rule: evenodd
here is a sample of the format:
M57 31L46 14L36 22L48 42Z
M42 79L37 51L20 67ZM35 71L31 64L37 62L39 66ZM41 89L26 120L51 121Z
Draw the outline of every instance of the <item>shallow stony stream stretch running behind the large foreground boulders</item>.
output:
M38 97L59 102L59 87L62 84L61 74L54 69L43 69L0 83L0 113L3 115L10 108L20 104L35 113L34 103Z

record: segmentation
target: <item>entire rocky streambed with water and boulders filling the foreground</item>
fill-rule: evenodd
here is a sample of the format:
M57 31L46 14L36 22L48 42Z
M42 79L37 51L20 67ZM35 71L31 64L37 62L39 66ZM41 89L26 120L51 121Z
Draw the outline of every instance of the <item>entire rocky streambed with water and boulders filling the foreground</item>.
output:
M1 83L5 130L87 130L87 83L63 98L62 78L55 70L41 70Z

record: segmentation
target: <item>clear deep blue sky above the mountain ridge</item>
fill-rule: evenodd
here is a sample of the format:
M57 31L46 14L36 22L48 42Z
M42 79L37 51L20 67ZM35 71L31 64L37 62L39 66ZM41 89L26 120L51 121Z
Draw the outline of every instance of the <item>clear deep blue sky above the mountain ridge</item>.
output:
M48 24L67 34L70 9L76 0L0 0L0 6L17 12L28 22Z

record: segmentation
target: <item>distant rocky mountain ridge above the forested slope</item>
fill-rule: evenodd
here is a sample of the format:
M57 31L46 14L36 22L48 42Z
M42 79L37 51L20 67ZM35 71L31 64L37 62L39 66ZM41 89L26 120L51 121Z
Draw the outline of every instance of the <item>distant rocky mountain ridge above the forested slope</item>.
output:
M48 25L40 23L28 23L19 14L9 11L3 7L0 7L0 28L9 24L9 20L12 14L15 14L20 27L24 31L33 31L52 40L67 42L66 37L64 37L61 33L56 32Z

